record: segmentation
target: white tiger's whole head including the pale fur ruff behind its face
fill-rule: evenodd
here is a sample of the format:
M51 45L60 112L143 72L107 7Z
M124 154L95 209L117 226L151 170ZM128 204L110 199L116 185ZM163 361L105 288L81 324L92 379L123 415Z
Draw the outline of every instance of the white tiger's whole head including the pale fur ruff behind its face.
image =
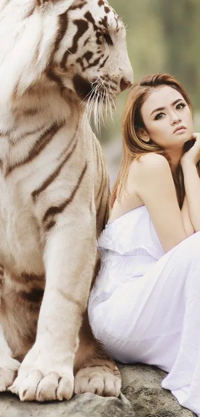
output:
M3 0L0 20L1 96L10 80L21 95L46 79L109 110L133 83L126 30L106 0Z

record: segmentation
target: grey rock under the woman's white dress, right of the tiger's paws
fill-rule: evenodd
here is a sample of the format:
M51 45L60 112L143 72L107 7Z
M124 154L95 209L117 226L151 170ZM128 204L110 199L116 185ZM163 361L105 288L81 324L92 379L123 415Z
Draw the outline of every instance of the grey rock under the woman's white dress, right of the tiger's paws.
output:
M161 387L166 373L155 366L118 364L122 374L122 392L138 417L194 417L181 407L170 391Z

